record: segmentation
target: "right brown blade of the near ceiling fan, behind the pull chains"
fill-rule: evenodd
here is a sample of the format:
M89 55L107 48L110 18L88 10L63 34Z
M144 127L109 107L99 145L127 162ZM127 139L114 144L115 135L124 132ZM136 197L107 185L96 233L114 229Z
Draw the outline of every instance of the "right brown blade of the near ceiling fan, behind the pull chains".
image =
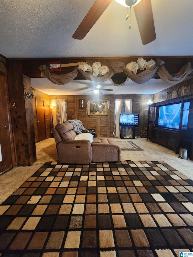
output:
M156 39L151 0L141 0L133 8L142 44L147 45Z

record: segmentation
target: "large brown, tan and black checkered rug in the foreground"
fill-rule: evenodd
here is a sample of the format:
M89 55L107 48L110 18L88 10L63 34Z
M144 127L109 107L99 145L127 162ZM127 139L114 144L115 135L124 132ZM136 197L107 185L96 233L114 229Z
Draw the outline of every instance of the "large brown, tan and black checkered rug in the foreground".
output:
M164 161L46 162L0 205L0 256L179 257L192 192Z

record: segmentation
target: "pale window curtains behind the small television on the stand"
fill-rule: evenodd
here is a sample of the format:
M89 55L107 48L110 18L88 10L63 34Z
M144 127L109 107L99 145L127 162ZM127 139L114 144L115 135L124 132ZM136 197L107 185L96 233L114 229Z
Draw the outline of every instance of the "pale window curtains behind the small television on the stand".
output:
M132 100L131 99L116 99L115 100L115 124L114 124L114 137L120 137L121 127L119 126L120 114L132 113ZM125 136L132 137L132 129L129 127L122 128Z

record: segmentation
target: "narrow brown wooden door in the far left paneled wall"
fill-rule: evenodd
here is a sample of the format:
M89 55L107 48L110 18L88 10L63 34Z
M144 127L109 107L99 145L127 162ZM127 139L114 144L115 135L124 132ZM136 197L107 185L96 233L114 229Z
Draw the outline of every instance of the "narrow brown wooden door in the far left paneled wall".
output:
M44 100L36 97L36 111L37 111L37 133L38 142L46 139L46 126L44 116Z

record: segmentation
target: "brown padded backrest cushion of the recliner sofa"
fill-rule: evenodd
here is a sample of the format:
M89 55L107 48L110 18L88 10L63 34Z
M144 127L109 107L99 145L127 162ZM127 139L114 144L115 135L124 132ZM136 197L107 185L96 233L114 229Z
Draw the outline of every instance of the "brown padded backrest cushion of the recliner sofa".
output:
M69 122L57 124L55 128L61 136L62 141L74 140L74 138L76 137L76 133L73 130L73 126Z

